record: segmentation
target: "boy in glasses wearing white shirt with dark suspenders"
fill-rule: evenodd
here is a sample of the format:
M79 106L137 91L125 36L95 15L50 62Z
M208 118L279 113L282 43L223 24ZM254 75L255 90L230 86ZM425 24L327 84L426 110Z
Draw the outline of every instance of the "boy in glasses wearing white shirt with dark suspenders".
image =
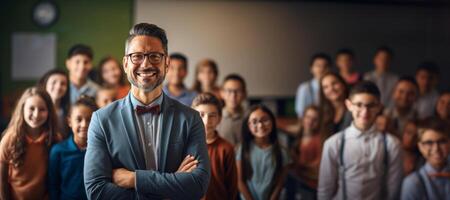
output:
M345 102L348 128L324 143L318 199L397 199L403 175L401 145L375 128L380 91L369 81L356 84Z

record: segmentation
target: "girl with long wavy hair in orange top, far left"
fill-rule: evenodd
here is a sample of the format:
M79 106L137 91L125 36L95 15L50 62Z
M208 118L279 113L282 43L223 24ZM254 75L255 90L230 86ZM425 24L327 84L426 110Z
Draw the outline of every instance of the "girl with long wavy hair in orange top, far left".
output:
M52 99L28 88L0 142L0 199L48 199L48 150L59 140Z

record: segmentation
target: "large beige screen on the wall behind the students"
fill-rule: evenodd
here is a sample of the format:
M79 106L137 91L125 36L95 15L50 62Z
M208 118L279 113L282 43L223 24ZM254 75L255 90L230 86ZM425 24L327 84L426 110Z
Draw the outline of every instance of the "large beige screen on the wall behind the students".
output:
M167 31L169 52L187 55L188 87L195 64L212 58L219 82L239 73L253 97L294 96L298 84L310 78L310 56L333 55L342 47L356 52L357 70L368 71L374 49L387 44L397 58L392 70L414 72L411 67L448 49L450 32L439 21L443 11L414 6L136 0L134 13L135 23Z

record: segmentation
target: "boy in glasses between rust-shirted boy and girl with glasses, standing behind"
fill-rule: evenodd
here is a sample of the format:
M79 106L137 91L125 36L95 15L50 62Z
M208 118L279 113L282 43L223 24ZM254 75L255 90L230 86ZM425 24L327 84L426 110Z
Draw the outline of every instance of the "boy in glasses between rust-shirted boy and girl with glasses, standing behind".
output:
M220 95L225 103L222 110L222 121L217 130L222 138L235 145L241 142L244 108L242 102L247 97L244 78L238 74L225 77Z

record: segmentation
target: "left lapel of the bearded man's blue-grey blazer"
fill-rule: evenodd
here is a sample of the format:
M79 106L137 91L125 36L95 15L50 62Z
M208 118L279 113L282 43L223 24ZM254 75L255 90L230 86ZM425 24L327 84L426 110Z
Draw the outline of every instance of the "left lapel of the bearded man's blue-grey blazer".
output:
M145 169L145 162L142 153L141 144L139 142L139 133L137 132L137 123L134 121L134 112L130 99L131 93L124 99L122 104L121 119L126 130L128 143L133 153L133 159L138 169Z

